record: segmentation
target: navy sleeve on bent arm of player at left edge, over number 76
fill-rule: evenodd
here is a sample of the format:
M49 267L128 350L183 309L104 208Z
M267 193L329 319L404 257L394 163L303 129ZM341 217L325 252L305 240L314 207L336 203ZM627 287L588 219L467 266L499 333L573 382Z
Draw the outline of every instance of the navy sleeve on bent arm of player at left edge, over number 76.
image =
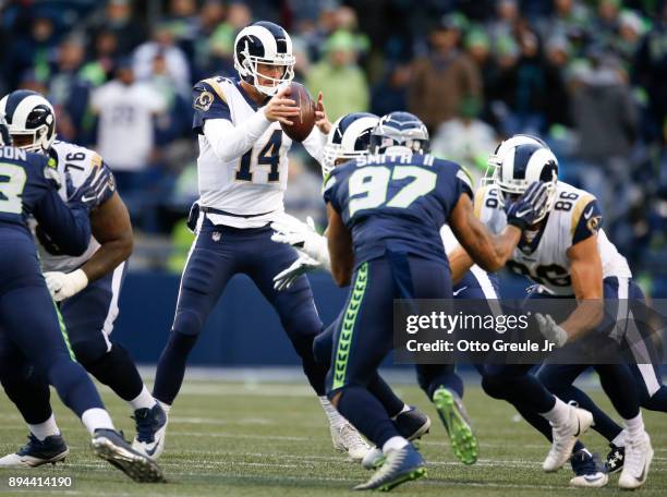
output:
M35 205L33 215L38 222L37 238L49 253L77 256L88 247L90 219L84 204L65 205L58 191L49 189Z

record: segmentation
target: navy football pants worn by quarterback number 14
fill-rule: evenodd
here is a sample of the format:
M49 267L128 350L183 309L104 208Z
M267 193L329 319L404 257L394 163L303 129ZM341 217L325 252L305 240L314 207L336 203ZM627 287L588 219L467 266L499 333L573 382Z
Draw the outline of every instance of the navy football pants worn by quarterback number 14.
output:
M296 260L296 251L271 241L272 230L214 226L204 219L185 264L167 346L160 355L154 396L171 404L183 376L185 362L206 319L225 287L235 274L247 275L274 306L303 369L318 396L325 393L326 368L313 356L313 340L322 331L313 292L305 276L287 290L274 289L274 276Z

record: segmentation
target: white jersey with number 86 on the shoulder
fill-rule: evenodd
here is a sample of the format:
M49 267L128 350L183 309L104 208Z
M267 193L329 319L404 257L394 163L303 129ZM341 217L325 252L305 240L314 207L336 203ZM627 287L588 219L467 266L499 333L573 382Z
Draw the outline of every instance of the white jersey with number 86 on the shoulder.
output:
M498 202L499 190L488 185L475 194L475 215L487 228L499 233L507 226L507 215ZM631 278L626 258L599 229L602 216L596 199L590 193L558 182L556 203L539 238L532 243L522 240L514 248L507 267L539 284L541 290L555 295L573 295L568 248L578 237L585 239L597 231L597 250L602 258L603 278Z

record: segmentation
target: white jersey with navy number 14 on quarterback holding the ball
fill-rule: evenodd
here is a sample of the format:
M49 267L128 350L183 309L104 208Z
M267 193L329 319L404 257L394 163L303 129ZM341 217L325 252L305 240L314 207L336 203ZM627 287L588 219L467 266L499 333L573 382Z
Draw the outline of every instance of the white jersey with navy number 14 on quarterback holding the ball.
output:
M237 80L204 80L195 85L195 121L201 119L201 126L206 119L228 119L237 126L257 111L257 106ZM221 110L214 112L216 106ZM304 146L312 154L314 146L322 148L324 145L318 144L322 140L316 134L317 129L304 141ZM198 203L203 207L230 214L207 214L207 217L215 225L258 228L280 216L284 211L282 201L287 190L288 150L291 145L292 140L282 132L280 123L271 122L250 150L241 157L223 161L201 133Z

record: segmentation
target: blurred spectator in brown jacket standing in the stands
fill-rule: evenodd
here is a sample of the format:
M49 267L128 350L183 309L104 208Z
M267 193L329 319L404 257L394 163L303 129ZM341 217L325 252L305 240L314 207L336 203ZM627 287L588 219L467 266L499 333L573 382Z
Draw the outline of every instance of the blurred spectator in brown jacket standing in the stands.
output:
M461 25L446 15L430 33L430 51L412 66L408 107L429 130L457 116L465 97L480 98L482 78L474 62L461 50Z

